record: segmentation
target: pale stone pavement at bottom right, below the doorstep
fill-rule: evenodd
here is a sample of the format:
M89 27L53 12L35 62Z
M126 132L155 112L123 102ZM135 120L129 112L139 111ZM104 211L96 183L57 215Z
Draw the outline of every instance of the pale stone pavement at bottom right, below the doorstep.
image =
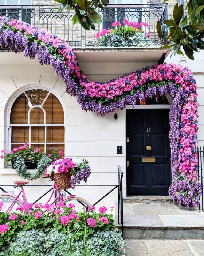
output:
M203 256L203 240L125 240L130 256Z

